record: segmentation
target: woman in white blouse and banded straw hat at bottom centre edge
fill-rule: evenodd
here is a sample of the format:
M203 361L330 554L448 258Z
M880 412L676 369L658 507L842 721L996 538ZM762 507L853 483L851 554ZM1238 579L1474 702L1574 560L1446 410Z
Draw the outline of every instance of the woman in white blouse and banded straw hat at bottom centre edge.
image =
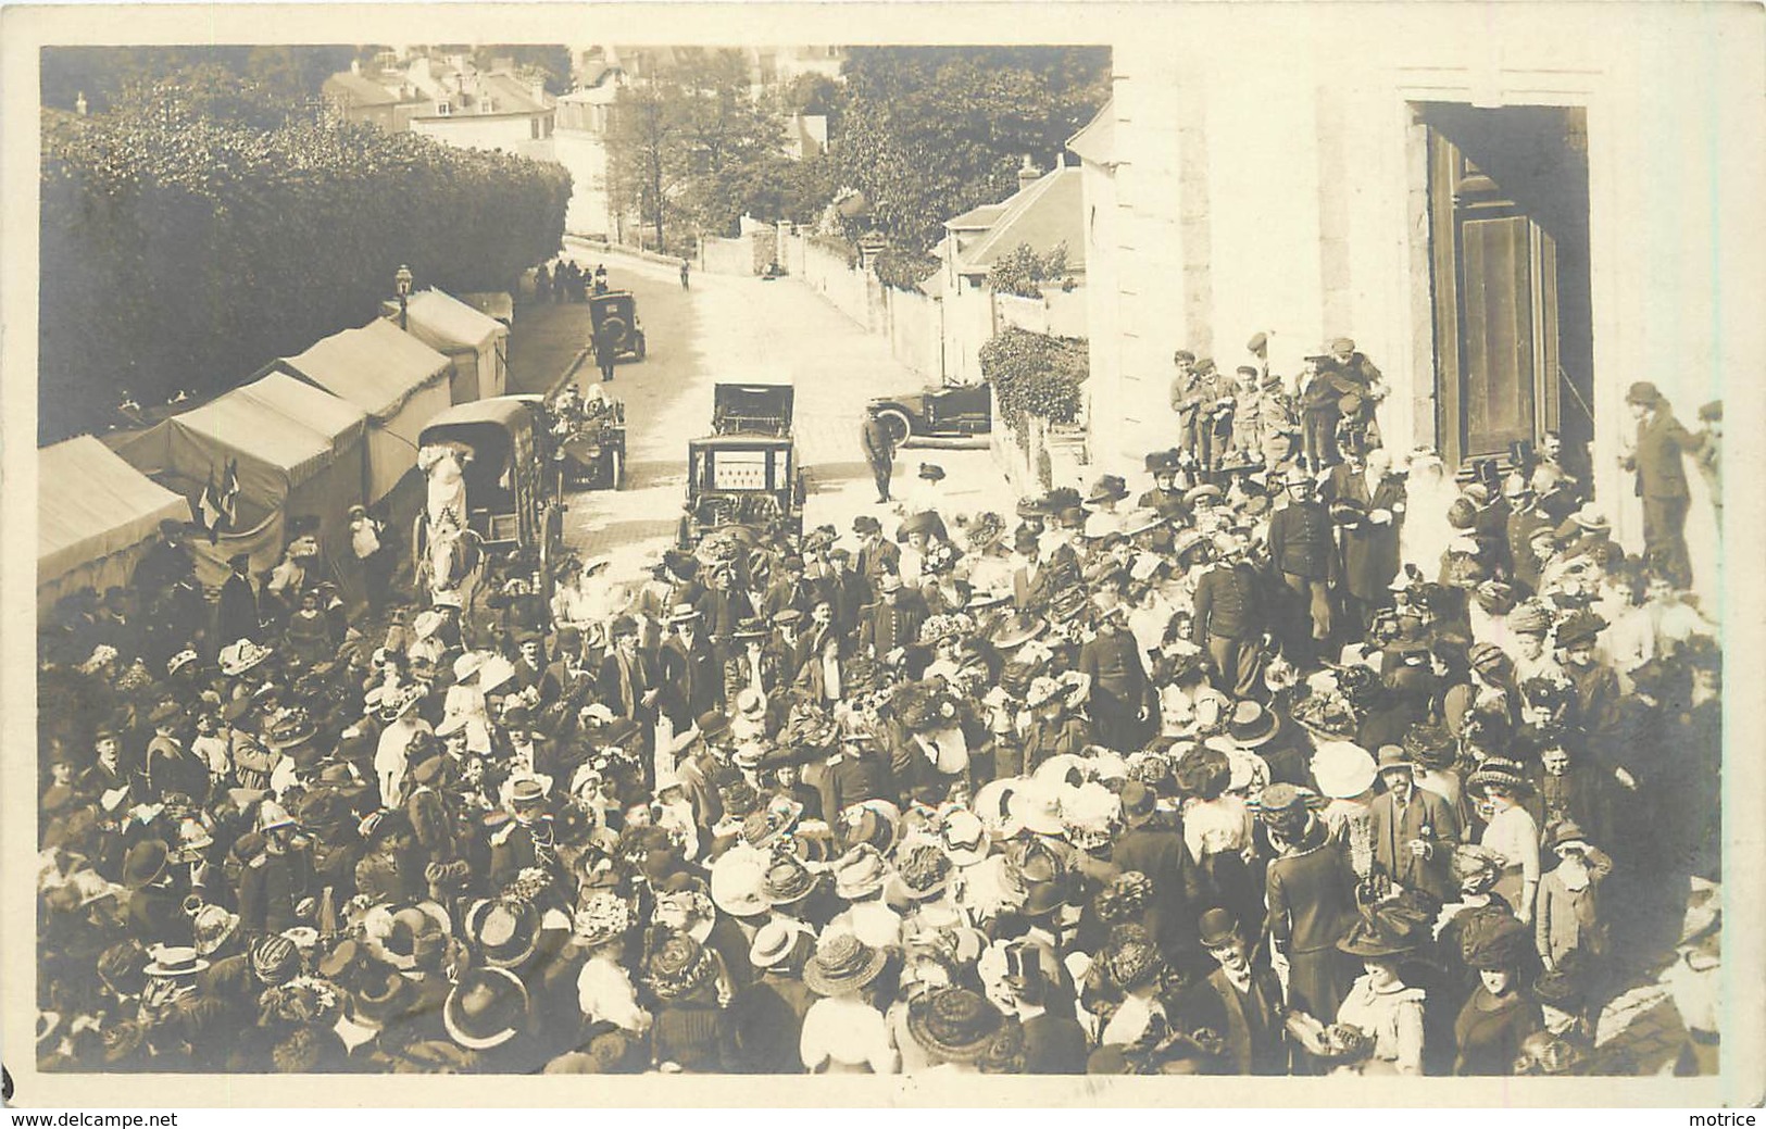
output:
M894 1074L899 1057L872 984L888 954L828 926L804 966L804 982L821 998L804 1014L800 1049L812 1074Z

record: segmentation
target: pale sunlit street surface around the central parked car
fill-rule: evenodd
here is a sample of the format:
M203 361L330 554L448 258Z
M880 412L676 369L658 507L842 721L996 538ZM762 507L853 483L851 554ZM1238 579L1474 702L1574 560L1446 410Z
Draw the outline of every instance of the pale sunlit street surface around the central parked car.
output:
M915 389L922 380L888 355L883 339L846 320L802 283L692 276L682 292L671 267L577 249L579 265L608 263L615 288L638 295L648 355L622 364L611 392L625 401L627 486L570 496L565 541L581 553L613 557L629 571L668 544L680 518L687 440L712 421L719 380L789 376L796 383L798 458L809 468L805 525L846 532L860 511L883 514L858 454L871 396ZM510 345L510 390L547 390L588 339L588 306L525 306ZM579 387L599 380L585 360ZM1010 504L987 451L908 449L895 465L895 495L915 496L920 463L945 468L941 500L957 511Z

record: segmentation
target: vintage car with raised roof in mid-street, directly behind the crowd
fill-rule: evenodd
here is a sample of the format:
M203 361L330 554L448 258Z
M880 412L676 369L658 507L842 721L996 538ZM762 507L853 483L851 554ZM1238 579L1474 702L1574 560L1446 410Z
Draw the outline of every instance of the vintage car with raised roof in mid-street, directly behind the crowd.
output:
M804 532L809 477L791 440L789 383L719 383L712 435L687 443L687 505L676 541L694 548L719 528L782 525Z

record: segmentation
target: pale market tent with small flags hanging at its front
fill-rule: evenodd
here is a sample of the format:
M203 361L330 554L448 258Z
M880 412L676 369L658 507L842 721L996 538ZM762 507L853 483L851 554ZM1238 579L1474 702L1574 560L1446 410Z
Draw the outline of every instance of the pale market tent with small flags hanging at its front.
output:
M124 438L115 451L141 474L182 493L196 511L203 488L238 463L237 532L192 537L205 583L249 553L253 571L275 565L288 518L318 519L334 571L348 557L350 507L362 502L367 415L286 373L272 373L184 415ZM348 580L346 572L339 576Z

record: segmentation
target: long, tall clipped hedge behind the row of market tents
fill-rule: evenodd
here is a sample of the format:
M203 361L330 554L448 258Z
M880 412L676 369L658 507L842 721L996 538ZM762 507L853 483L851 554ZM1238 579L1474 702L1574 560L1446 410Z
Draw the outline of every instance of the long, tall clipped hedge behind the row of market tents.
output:
M124 389L212 396L362 325L401 263L419 288L510 290L563 244L562 166L200 104L162 83L127 113L44 120L42 442L102 428Z

